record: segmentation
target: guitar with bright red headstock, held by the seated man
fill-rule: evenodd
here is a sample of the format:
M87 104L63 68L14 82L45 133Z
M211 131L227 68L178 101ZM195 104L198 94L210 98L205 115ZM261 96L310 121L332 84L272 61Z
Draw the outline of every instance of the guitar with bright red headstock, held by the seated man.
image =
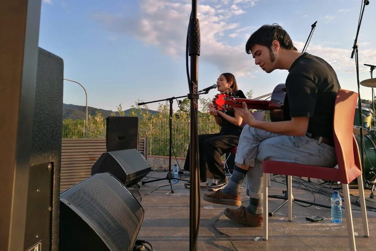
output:
M242 103L245 102L250 109L270 111L270 120L275 122L285 120L283 116L285 96L286 85L278 84L271 93L270 100L237 98L228 93L221 93L215 95L213 103L218 110L229 110L242 107Z

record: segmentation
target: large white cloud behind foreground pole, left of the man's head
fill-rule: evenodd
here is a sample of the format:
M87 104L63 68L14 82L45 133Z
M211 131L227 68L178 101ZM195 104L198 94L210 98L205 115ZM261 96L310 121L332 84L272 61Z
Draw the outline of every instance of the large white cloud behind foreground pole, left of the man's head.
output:
M184 56L191 4L179 0L140 0L139 3L140 13L134 17L110 13L95 14L93 17L111 32L131 35L175 58ZM244 11L238 5L222 5L221 8L223 9L215 9L209 5L198 6L200 60L212 63L220 71L233 72L239 77L251 75L249 65L252 58L245 53L245 44L242 42L239 46L230 46L223 41L225 34L237 28L238 30L228 35L229 38L249 29L229 21L231 17Z

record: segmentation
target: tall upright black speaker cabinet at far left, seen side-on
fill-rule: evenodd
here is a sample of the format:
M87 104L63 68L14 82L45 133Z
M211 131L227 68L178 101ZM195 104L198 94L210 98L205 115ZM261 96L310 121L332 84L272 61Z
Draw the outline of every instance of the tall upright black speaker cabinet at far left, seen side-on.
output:
M24 250L57 251L64 62L39 48L36 73Z

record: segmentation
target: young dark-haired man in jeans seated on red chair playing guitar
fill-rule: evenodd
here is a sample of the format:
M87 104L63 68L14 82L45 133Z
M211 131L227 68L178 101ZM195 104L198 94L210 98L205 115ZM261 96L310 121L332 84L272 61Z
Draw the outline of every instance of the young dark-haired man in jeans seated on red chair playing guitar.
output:
M247 41L246 52L265 72L289 71L286 79L284 117L280 122L258 121L247 105L235 108L247 125L243 128L228 185L203 199L212 203L240 206L240 186L247 175L249 206L227 208L231 220L262 225L262 161L275 160L334 167L334 101L340 88L334 69L320 57L299 53L287 32L277 24L264 25ZM267 217L267 215L265 216Z

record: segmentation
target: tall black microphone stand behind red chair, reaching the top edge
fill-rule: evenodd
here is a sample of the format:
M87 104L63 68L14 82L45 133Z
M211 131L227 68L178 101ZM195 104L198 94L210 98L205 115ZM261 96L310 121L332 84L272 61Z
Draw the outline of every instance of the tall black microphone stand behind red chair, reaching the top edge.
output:
M363 125L362 125L362 102L361 102L361 98L360 98L360 82L359 82L359 58L358 58L358 35L359 35L359 30L360 30L360 25L362 23L362 18L363 18L363 13L364 13L364 8L366 5L368 5L370 2L368 0L364 0L363 2L363 8L361 9L361 14L360 14L360 18L359 18L359 22L358 22L358 29L356 30L356 36L355 36L355 40L354 40L354 45L353 45L353 50L351 52L351 58L354 57L354 53L355 53L355 67L356 67L356 83L358 84L358 109L359 109L359 127L361 128L360 130L360 162L361 162L361 168L362 168L362 171L364 170L364 152L363 152L363 148L364 148L364 140L363 140ZM359 186L360 184L358 184ZM360 200L360 197L358 197L358 200Z

